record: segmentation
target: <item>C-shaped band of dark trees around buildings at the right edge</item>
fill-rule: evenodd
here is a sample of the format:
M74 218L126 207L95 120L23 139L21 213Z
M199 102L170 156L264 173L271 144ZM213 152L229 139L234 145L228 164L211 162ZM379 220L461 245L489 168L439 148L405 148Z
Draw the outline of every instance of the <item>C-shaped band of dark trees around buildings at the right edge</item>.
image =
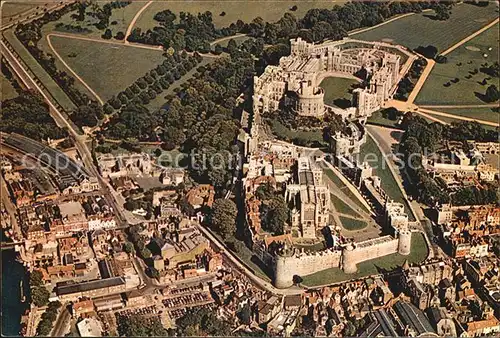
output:
M419 116L406 113L402 126L405 133L399 146L405 161L405 170L413 182L411 193L418 201L427 205L449 203L450 195L446 184L436 180L424 169L422 155L433 153L440 144L446 141L494 141L498 139L498 132L485 130L477 122L452 123L451 126L437 122L428 123ZM489 186L482 188L463 188L451 197L455 205L489 204L497 198L496 193Z

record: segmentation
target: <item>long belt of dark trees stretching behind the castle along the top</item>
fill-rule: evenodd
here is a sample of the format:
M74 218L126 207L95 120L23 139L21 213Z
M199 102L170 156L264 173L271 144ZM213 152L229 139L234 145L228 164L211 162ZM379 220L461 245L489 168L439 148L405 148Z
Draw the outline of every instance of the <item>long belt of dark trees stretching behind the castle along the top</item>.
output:
M365 26L374 26L394 15L421 12L423 9L435 9L436 18L443 20L450 12L451 3L436 2L349 2L343 6L335 5L332 9L311 9L298 20L292 13L284 13L277 22L265 22L257 17L249 23L238 20L228 27L216 28L212 13L197 15L179 13L170 10L156 13L154 19L158 25L142 32L139 28L132 31L129 41L152 45L173 47L176 50L210 51L210 42L223 36L245 33L252 37L263 38L266 44L288 44L290 38L298 37L318 42L325 39L342 39L347 32Z

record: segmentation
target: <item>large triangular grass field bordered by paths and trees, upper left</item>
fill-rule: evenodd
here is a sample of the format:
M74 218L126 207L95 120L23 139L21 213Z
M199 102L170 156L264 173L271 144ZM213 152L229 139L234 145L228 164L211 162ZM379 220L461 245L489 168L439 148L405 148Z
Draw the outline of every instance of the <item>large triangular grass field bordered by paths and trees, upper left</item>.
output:
M64 61L103 100L126 89L164 60L163 53L156 50L59 36L51 37L51 41Z

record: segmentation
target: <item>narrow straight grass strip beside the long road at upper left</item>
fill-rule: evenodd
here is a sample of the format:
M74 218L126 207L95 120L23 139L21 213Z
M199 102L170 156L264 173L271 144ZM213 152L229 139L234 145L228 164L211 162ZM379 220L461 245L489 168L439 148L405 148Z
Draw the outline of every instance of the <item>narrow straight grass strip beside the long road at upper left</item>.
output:
M75 109L75 105L66 95L66 93L59 87L59 85L49 76L49 74L42 68L37 60L24 48L23 44L16 38L12 30L3 32L5 39L12 45L16 53L21 57L23 62L29 67L29 70L34 74L47 88L49 94L64 108L67 112Z

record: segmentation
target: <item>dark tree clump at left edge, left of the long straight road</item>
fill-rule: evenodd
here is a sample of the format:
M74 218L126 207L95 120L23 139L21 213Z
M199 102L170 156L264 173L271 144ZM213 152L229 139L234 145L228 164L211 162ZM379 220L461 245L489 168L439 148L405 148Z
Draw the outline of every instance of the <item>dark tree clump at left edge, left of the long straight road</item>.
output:
M2 102L0 131L18 133L37 141L60 139L68 135L59 128L49 113L43 98L30 91Z

